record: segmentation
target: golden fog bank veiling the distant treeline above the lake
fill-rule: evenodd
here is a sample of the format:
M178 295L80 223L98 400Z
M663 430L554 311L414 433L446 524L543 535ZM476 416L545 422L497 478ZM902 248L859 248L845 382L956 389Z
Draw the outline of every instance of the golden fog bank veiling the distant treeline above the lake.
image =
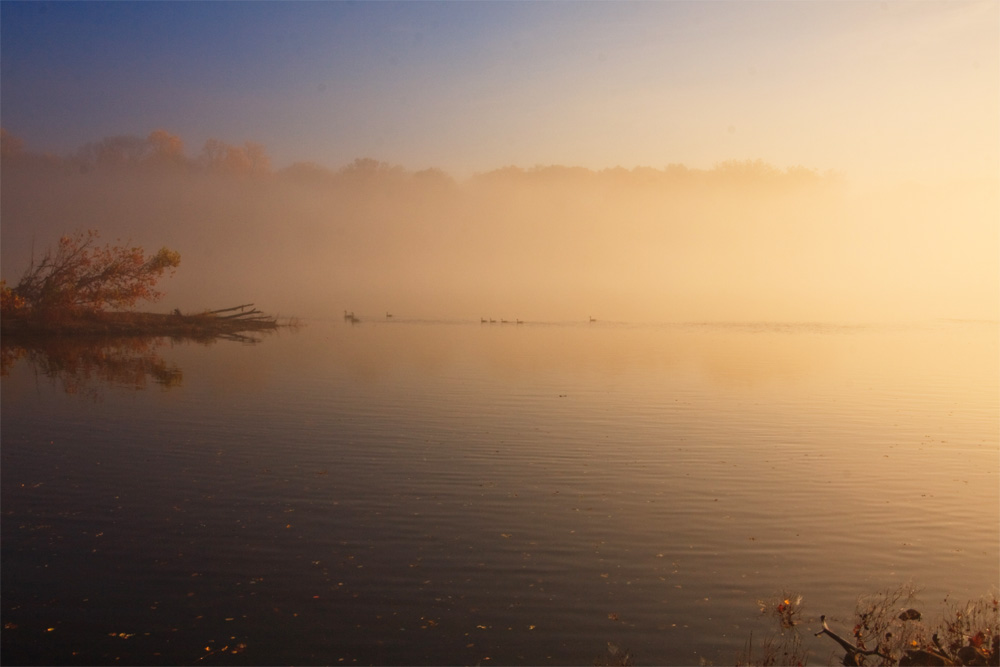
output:
M735 161L503 167L457 181L373 159L274 169L166 132L70 156L4 133L2 275L97 229L181 254L142 309L303 318L884 321L1000 317L998 187L858 184Z

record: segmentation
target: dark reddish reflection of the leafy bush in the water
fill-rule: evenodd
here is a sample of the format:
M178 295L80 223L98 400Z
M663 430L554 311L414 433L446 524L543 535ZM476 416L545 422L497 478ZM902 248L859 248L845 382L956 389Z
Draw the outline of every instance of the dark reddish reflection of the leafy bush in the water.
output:
M24 359L69 394L96 393L102 384L145 389L153 383L169 389L180 385L184 374L156 353L164 343L159 337L4 339L0 375L7 376Z

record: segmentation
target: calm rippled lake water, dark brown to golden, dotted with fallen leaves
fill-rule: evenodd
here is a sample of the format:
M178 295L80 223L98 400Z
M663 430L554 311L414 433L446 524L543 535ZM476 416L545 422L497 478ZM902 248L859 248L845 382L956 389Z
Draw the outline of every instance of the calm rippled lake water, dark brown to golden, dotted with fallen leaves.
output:
M825 663L1000 584L996 323L161 342L9 365L5 663L733 664L782 590Z

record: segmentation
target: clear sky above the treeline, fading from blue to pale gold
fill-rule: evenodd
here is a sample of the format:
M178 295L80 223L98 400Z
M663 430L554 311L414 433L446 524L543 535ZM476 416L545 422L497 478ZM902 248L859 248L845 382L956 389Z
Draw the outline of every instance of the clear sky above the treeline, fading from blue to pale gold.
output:
M995 177L1000 3L0 3L2 123L374 157Z

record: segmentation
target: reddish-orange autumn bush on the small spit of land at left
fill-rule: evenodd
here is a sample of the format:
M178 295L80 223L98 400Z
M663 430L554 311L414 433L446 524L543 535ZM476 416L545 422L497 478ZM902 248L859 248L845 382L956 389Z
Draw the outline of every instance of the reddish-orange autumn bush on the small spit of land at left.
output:
M3 314L72 315L131 308L156 301L164 273L172 274L180 254L161 248L147 257L131 245L99 245L96 230L63 236L40 261L32 260L13 288L3 286Z

